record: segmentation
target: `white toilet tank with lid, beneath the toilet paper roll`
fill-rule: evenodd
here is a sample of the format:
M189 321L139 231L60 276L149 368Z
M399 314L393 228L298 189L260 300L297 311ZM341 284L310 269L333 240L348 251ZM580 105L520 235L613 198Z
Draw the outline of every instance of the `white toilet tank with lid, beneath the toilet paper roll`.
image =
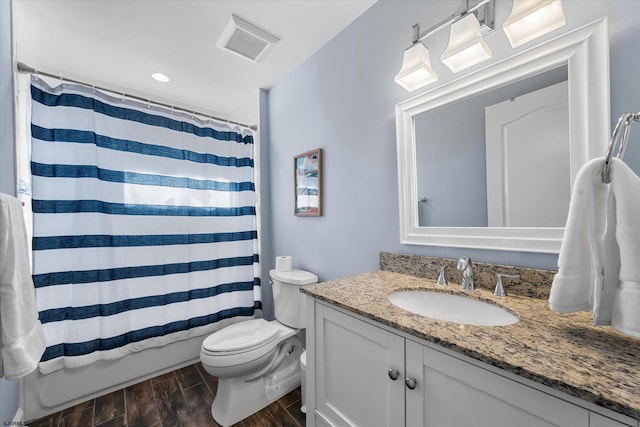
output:
M305 327L305 301L300 288L318 283L318 276L304 270L269 272L272 280L273 305L276 319L285 325L303 329Z

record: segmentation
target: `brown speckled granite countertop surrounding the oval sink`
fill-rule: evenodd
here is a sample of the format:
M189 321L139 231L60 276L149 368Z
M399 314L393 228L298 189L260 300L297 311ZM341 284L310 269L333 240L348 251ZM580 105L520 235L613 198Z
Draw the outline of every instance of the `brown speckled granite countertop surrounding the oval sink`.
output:
M509 284L506 283L507 293ZM640 340L608 326L593 326L586 312L551 311L546 298L509 294L494 297L477 288L466 293L517 314L508 326L459 325L403 310L387 295L399 290L446 288L434 280L379 270L305 286L314 298L502 368L598 406L640 420Z

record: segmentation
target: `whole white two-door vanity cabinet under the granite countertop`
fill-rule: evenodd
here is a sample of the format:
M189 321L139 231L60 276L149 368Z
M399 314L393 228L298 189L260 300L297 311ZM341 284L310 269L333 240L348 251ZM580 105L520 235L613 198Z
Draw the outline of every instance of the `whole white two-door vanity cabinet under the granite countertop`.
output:
M307 426L638 426L355 314L310 306Z

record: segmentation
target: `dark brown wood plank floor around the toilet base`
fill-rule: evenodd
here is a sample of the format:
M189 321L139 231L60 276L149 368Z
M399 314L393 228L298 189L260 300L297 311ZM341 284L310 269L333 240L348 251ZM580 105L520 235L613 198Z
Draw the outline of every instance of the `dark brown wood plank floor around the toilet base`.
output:
M200 363L81 403L29 427L219 427L211 417L218 380ZM303 427L300 388L235 427Z

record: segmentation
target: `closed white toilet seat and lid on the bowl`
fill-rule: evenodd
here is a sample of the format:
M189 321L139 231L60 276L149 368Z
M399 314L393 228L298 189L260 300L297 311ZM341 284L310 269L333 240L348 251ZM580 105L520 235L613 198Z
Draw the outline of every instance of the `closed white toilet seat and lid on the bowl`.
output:
M275 320L242 321L209 335L202 343L200 358L204 364L218 368L258 362L296 332Z

